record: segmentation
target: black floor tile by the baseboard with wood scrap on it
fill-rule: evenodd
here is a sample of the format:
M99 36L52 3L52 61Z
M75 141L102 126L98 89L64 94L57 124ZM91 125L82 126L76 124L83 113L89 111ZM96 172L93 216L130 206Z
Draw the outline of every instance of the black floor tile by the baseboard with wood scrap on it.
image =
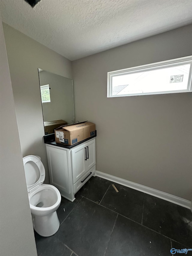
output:
M119 192L117 193L111 185L100 204L141 223L145 194L123 185L114 185Z

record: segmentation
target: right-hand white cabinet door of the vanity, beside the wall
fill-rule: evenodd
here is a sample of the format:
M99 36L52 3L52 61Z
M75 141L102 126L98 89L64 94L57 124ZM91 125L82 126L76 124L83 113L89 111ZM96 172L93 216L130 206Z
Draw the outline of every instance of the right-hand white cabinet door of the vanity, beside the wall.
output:
M86 146L86 153L87 153L87 161L86 163L86 169L87 171L96 164L95 160L95 140L91 140L85 144Z

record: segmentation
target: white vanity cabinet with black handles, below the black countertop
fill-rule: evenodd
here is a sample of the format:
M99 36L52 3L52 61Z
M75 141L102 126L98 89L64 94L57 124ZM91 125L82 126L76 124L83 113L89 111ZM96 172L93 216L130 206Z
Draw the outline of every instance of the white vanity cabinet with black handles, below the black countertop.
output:
M50 184L74 201L74 194L95 176L95 138L70 149L46 144Z

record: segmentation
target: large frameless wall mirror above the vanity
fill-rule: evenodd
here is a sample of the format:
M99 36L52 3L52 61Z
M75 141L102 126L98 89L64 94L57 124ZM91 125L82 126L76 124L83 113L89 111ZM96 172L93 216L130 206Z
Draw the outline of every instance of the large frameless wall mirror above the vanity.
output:
M64 125L61 120L67 124L74 123L73 81L40 68L38 71L44 128L47 122L54 124L53 121L58 120L58 127ZM51 132L45 129L45 134L52 132L53 129Z

